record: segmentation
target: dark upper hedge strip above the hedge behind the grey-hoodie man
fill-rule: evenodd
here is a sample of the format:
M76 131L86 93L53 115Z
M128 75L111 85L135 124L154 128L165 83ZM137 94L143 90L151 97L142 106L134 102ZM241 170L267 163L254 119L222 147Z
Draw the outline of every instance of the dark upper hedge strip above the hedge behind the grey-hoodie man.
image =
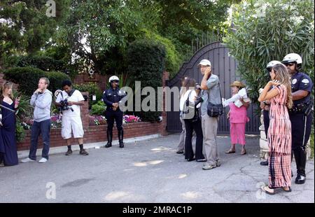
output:
M56 60L46 56L22 56L19 57L16 66L30 66L43 71L63 71L65 69L62 60Z

